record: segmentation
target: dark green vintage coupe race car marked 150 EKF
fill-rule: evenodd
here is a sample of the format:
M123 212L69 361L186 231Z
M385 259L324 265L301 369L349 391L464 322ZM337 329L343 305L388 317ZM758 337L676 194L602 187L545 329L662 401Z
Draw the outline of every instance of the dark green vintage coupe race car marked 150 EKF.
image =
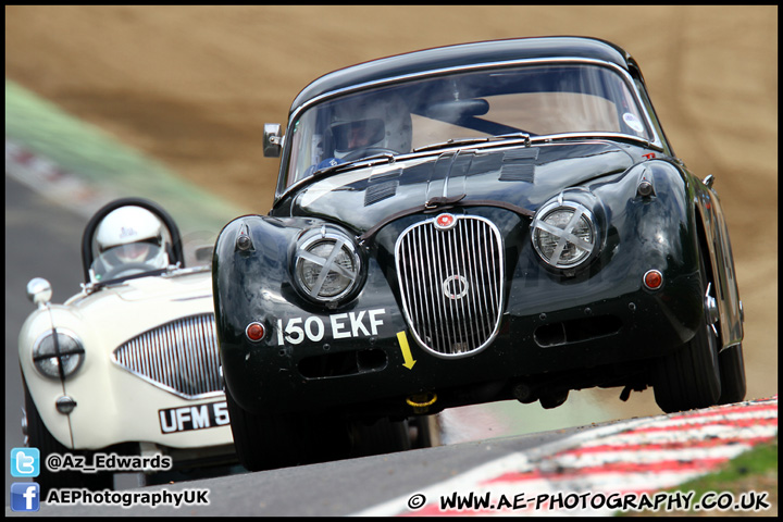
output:
M274 206L213 264L234 440L250 470L350 455L358 431L571 389L663 411L745 395L713 179L674 154L636 62L587 38L428 49L294 100ZM366 430L365 430L366 432ZM383 438L383 437L380 437ZM381 444L380 442L377 444Z

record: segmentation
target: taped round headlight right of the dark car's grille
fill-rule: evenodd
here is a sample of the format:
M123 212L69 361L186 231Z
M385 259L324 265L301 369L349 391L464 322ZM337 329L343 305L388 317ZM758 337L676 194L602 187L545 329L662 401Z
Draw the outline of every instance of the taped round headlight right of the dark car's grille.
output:
M558 269L574 268L586 261L597 244L593 214L575 202L544 206L536 213L532 227L536 251L544 261Z

